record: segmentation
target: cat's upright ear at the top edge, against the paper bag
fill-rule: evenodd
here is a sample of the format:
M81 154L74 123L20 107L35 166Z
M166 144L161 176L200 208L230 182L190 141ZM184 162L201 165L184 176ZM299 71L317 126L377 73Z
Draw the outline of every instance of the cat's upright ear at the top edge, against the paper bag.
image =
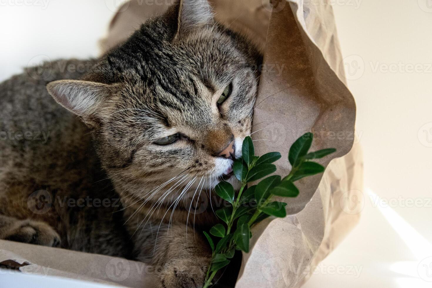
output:
M213 12L207 0L178 0L167 12L168 25L174 38L213 22Z

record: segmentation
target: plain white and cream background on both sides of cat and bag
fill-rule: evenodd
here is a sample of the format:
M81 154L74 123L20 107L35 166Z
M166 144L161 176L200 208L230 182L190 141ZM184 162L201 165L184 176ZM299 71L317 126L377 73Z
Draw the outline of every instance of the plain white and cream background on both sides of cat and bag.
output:
M0 81L40 55L96 57L114 14L104 0L20 3L0 0ZM305 287L432 287L432 1L330 3L357 103L364 208Z

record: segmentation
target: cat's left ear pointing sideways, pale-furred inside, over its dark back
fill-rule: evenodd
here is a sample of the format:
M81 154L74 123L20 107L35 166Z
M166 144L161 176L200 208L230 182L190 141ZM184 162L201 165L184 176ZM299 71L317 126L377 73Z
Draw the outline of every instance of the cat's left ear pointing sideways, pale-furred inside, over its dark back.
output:
M48 83L47 90L64 108L86 118L100 111L110 95L111 86L90 81L58 80Z

